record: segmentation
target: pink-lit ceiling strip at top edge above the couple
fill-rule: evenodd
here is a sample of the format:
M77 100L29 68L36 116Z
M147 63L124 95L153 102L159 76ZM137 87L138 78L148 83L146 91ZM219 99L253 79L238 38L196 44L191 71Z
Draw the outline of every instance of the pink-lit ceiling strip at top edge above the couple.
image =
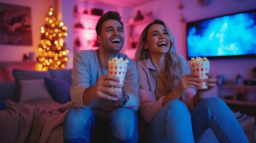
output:
M88 2L111 4L115 6L136 7L156 0L83 0Z

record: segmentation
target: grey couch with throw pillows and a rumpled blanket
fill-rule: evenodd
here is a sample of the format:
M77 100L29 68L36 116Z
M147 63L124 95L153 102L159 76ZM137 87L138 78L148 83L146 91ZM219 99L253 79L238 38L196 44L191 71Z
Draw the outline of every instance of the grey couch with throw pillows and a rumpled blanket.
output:
M62 143L63 121L72 106L72 69L12 71L15 81L0 82L1 143ZM207 129L200 143L217 143Z

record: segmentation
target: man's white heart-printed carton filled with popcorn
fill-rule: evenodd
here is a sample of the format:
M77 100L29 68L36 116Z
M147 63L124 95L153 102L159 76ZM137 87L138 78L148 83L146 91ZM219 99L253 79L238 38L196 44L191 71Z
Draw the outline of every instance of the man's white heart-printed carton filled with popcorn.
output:
M108 74L119 77L118 82L121 83L121 85L123 85L124 83L128 62L129 62L128 60L123 60L123 58L117 58L117 57L112 58L112 60L108 60L108 64L107 64ZM121 88L112 87L112 86L110 88L122 90Z

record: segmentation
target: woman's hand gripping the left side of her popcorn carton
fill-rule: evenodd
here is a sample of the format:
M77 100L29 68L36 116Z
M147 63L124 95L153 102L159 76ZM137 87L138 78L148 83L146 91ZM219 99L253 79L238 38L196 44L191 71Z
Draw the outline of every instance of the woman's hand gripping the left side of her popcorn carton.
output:
M199 75L196 73L190 73L181 77L178 87L175 89L179 96L186 93L188 88L202 87L203 80L199 79Z

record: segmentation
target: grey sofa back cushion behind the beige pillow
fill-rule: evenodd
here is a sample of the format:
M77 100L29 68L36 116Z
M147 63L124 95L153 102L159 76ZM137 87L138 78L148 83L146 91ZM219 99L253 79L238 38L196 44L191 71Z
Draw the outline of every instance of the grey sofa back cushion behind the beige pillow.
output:
M50 72L37 72L29 70L12 70L12 75L17 83L16 85L16 101L20 101L20 80L21 79L43 79L43 77L51 78Z

